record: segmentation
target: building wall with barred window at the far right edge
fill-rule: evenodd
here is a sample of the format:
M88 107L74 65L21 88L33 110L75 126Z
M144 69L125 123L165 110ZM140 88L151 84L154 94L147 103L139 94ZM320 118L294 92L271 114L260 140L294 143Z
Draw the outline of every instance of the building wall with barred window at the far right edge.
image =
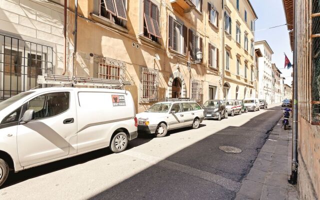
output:
M283 0L283 6L297 67L299 195L320 199L320 2Z

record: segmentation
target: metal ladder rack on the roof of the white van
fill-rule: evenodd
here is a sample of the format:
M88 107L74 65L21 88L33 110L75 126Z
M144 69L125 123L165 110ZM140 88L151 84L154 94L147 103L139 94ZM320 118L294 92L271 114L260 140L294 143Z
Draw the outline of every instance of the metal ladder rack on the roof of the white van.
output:
M70 75L56 75L47 74L38 75L37 83L39 84L58 84L65 85L83 85L83 86L101 86L101 87L120 87L123 85L130 85L129 81L104 79L104 78L91 78L81 76L70 76Z

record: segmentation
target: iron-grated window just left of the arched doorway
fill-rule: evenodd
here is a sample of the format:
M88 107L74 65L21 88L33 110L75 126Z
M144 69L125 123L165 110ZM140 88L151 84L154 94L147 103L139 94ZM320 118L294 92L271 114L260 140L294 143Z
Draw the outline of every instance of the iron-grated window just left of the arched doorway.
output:
M156 69L142 68L142 101L159 100L159 71Z

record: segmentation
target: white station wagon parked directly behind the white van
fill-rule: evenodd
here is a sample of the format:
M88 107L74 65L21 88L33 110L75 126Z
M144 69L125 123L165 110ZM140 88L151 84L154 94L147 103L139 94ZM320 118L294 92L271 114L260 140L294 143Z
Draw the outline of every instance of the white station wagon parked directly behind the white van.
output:
M198 128L204 119L203 109L195 101L171 100L157 102L137 115L138 133L163 137L170 129L192 126Z

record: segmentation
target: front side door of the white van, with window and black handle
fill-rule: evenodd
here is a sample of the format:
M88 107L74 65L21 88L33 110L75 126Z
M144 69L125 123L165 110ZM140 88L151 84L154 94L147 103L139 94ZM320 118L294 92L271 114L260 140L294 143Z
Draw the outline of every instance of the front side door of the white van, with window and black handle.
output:
M76 107L73 90L39 94L23 103L21 116L34 110L34 119L17 127L21 166L76 152Z

